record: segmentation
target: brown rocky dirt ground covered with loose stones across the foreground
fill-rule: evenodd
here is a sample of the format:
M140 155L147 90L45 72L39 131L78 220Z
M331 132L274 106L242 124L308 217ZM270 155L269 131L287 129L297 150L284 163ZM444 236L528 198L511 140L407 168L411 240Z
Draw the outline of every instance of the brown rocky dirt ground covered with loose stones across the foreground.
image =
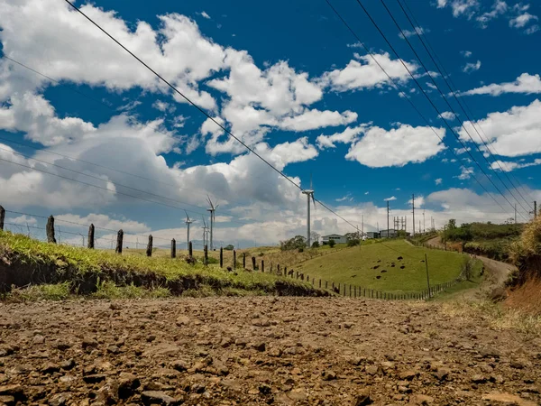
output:
M541 404L541 339L441 304L0 303L0 404Z

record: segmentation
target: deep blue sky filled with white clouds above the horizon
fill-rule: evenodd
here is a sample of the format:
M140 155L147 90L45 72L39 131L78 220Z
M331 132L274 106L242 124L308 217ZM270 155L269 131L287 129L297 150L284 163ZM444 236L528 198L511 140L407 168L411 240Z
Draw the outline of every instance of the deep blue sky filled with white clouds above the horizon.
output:
M471 110L472 126L398 2L386 2L487 162L381 3L362 2L501 196L460 150L357 2L331 3L431 126L324 0L77 5L302 188L311 174L316 198L353 224L364 219L365 230L386 226L385 199L391 217L410 216L412 193L425 210L426 228L430 217L436 226L450 217L503 221L515 203L518 220L531 217L531 202L541 196L541 56L533 51L541 7L501 0L407 2ZM0 60L0 204L37 215L8 213L10 223L41 227L38 216L52 213L68 242L84 234L68 221L123 227L131 244L149 232L163 242L173 236L182 241L183 209L197 220L192 229L199 238L210 194L220 203L216 241L270 244L305 233L306 197L298 189L228 140L65 2L0 0L0 14L2 55L55 80ZM493 156L477 136L480 129ZM353 231L325 208L312 214L319 234ZM105 244L111 233L102 234Z

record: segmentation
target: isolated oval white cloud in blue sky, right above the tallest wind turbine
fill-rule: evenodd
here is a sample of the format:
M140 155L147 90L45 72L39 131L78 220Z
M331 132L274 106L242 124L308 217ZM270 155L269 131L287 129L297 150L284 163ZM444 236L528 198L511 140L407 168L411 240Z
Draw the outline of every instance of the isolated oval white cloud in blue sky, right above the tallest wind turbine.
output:
M435 131L440 138L445 137L444 128ZM345 158L371 168L383 168L424 162L444 149L431 127L400 125L387 131L374 126L352 144Z

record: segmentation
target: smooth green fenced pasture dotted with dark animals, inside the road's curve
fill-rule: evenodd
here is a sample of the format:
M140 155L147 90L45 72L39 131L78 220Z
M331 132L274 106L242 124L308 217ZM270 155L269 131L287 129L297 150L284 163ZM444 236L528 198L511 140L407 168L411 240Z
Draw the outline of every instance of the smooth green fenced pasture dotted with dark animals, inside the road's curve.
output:
M304 272L310 279L378 291L422 291L426 289L425 254L431 284L454 280L460 275L466 258L463 254L415 247L404 240L383 241L317 257L298 264L295 270Z

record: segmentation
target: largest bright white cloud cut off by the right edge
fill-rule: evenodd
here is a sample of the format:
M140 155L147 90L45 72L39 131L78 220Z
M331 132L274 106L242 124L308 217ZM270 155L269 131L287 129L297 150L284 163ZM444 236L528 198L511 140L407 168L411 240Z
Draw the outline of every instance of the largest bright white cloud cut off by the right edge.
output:
M541 152L541 102L534 100L528 106L514 106L503 113L491 113L486 118L475 122L486 134L485 141L491 151L502 156L521 156ZM481 138L472 132L472 124L464 122L464 127L470 132L476 143L482 143ZM464 141L468 134L459 131Z

